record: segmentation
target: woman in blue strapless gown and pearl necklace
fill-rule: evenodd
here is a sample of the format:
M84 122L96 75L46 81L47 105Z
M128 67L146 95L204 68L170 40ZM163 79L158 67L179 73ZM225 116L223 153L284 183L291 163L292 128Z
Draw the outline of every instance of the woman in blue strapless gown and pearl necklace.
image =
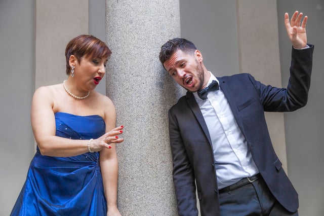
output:
M65 50L63 83L33 96L31 125L37 152L11 215L120 215L112 101L94 91L111 52L92 35L79 35Z

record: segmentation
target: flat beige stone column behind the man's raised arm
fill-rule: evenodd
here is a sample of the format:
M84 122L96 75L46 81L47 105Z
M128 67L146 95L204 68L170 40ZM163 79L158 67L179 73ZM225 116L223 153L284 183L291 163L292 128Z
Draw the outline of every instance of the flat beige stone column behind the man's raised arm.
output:
M240 73L281 87L276 1L236 1L236 7ZM284 14L280 17L279 22L284 22ZM282 73L289 73L288 69ZM284 114L265 114L274 150L287 171Z

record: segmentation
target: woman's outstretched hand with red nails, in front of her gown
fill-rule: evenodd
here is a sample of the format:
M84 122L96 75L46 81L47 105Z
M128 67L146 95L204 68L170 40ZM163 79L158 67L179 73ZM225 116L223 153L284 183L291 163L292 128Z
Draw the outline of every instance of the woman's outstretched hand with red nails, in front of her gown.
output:
M116 127L109 132L103 134L98 139L94 139L90 143L90 149L94 152L100 152L103 148L111 149L111 143L120 143L124 141L124 138L120 138L119 135L123 133L124 126Z

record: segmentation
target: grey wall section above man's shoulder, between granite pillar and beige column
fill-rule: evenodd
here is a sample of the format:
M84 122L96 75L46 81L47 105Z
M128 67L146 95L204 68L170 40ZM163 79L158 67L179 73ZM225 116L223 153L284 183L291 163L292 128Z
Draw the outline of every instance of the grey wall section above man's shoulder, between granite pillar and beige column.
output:
M180 0L181 38L195 44L216 76L238 74L235 1Z

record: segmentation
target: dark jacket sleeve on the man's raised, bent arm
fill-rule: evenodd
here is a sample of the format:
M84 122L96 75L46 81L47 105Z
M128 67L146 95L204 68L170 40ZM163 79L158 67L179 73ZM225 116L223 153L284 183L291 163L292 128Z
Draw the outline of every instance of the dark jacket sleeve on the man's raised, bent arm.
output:
M250 76L259 91L260 99L267 112L291 112L305 106L308 100L310 77L312 71L312 55L314 46L292 50L290 78L287 88L266 86Z

